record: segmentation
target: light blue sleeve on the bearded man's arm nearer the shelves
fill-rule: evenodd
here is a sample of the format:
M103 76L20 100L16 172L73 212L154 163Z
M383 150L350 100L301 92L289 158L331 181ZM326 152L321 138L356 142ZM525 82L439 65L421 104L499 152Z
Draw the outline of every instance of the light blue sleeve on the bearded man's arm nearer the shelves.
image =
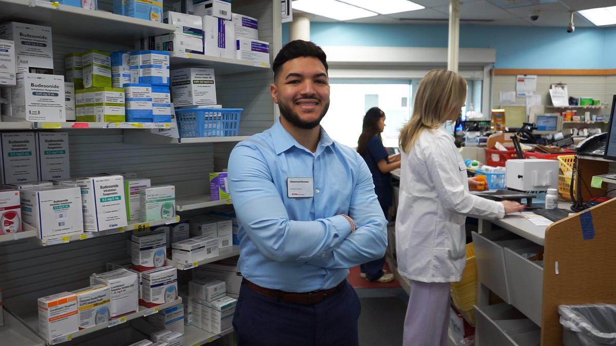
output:
M240 143L233 149L228 177L241 227L270 260L322 259L351 233L351 225L342 215L314 221L290 220L264 156L255 147Z

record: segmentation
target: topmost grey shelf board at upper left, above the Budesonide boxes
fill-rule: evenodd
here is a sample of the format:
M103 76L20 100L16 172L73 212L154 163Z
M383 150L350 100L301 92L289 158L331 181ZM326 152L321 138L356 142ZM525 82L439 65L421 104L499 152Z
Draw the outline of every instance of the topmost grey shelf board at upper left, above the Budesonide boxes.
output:
M170 24L152 22L102 10L82 9L49 0L1 0L0 22L33 23L52 26L52 34L84 38L92 41L113 41L134 45L141 38L174 32ZM57 25L67 23L68 25Z

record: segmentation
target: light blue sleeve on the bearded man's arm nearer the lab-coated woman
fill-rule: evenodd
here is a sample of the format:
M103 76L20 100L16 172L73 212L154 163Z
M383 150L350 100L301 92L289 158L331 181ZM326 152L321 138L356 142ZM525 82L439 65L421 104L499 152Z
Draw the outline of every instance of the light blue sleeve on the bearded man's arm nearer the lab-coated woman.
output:
M351 197L349 216L357 230L334 247L322 259L310 261L312 265L330 269L346 269L376 260L387 248L387 220L375 195L372 175L358 155L357 183Z

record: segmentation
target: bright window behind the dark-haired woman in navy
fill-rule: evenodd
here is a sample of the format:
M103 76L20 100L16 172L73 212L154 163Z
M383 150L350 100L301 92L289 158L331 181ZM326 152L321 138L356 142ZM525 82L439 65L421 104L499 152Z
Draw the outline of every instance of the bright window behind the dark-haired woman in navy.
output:
M330 137L349 147L357 147L362 133L363 116L371 107L385 112L383 145L398 147L398 136L411 113L411 83L343 84L332 82L330 110L321 122Z

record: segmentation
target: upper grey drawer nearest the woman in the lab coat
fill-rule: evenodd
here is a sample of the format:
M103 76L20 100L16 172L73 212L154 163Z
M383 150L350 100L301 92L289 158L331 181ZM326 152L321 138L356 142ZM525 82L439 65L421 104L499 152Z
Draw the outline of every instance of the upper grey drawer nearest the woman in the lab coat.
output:
M534 243L507 230L489 231L482 234L472 232L472 242L475 246L479 282L509 303L505 247L517 249L530 247Z

